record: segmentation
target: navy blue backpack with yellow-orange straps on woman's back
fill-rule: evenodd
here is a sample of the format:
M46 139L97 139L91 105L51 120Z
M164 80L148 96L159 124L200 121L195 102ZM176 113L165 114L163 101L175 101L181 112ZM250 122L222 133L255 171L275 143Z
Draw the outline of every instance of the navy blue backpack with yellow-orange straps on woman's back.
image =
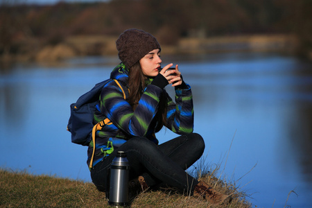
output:
M96 125L93 124L94 112L96 110L96 104L99 103L101 91L110 81L112 81L112 79L104 80L103 82L96 84L89 92L80 96L76 103L70 105L71 116L69 117L67 130L71 132L71 142L83 146L89 146L90 141L93 140L94 150L92 154L92 162L95 152L96 130L101 130L104 125L111 123L110 119L104 119L103 121L96 123ZM123 98L125 98L125 92L118 80L114 79L114 81L121 88Z

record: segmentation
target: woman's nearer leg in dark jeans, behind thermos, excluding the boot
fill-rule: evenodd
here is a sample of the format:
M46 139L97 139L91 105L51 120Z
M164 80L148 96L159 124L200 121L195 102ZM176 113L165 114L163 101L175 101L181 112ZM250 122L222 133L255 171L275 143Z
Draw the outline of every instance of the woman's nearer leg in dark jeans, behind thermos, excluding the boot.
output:
M184 169L174 162L171 158L165 155L152 141L144 137L135 137L125 142L118 150L127 153L127 158L130 164L130 179L138 177L143 173L146 184L153 185L155 182L153 178L159 182L164 182L171 187L176 187L181 191L191 191L198 181L188 175ZM92 181L96 184L98 189L105 190L107 168L110 167L116 151L106 157L103 162L96 164L92 169Z

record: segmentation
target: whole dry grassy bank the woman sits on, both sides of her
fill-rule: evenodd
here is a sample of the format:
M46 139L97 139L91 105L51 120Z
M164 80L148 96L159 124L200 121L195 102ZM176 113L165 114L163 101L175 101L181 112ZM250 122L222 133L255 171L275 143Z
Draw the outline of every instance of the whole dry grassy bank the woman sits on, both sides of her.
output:
M246 194L234 184L227 184L212 175L202 180L216 185L216 189L232 195L230 205L211 205L173 190L146 191L130 198L131 207L252 207ZM0 170L0 207L110 207L105 193L94 184L51 177Z

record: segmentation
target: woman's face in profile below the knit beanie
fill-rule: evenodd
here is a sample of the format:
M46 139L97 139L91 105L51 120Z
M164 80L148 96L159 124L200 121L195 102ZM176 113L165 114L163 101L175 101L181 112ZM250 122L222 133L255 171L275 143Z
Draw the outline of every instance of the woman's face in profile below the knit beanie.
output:
M160 50L154 49L153 51L150 51L144 56L144 58L141 58L139 62L145 76L157 76L160 64L162 63L162 60L160 59Z

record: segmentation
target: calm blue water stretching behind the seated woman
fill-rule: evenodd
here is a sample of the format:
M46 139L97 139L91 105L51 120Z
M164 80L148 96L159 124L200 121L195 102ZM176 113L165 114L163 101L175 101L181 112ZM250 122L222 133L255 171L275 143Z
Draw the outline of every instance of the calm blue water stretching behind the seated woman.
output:
M163 61L178 63L193 87L207 166L220 164L219 175L259 207L312 206L311 63L261 53ZM90 181L86 148L71 144L66 130L69 105L118 62L83 58L1 72L0 166ZM160 142L172 137L168 130L158 134Z

